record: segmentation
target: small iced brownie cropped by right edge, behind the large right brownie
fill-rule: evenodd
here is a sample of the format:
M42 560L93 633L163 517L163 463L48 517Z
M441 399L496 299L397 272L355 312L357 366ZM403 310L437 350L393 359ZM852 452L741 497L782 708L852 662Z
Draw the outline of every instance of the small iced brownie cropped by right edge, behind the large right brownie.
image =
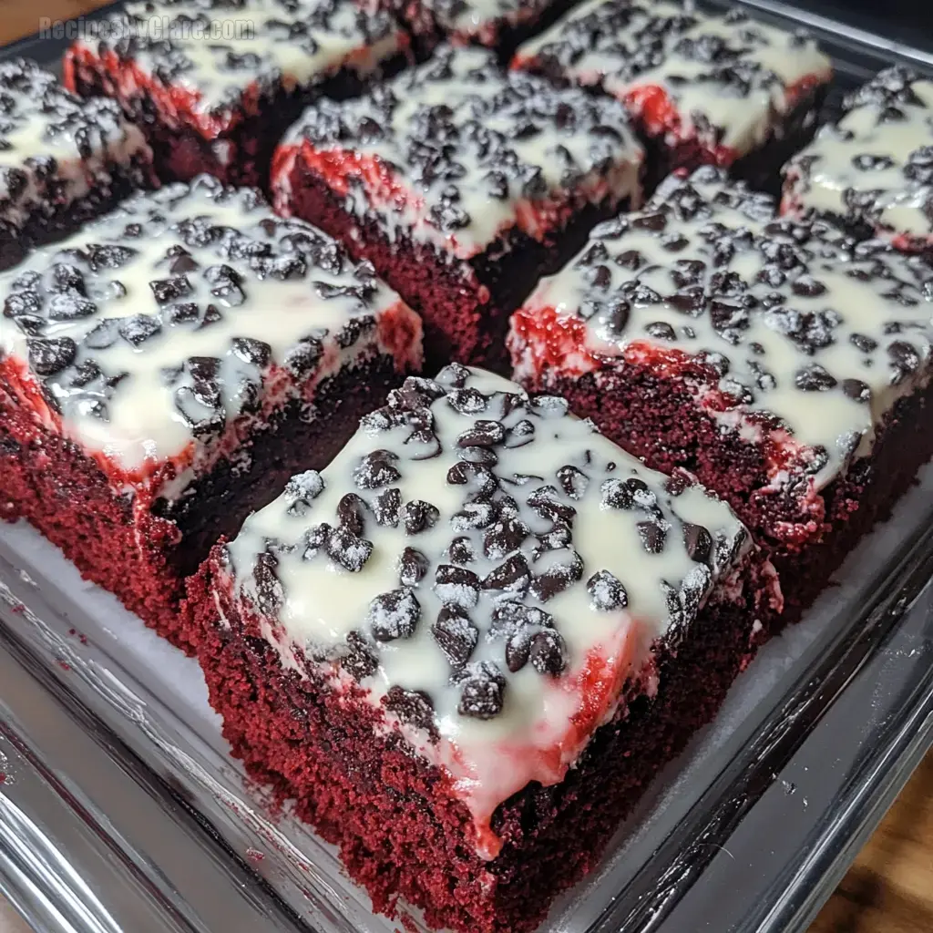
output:
M883 71L784 175L787 216L834 217L907 251L933 247L933 81L901 66Z

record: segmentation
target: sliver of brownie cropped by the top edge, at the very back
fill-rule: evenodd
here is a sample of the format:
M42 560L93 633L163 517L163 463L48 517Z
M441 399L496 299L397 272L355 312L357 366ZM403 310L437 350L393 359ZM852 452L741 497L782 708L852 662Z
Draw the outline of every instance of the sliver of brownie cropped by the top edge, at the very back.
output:
M383 0L383 7L409 28L420 53L447 41L487 46L504 62L572 5L573 0Z

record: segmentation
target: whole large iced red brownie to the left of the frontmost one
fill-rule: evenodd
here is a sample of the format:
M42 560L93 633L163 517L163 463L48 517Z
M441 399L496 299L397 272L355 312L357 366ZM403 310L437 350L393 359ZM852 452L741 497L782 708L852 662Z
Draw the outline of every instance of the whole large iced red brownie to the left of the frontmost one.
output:
M421 361L329 237L207 176L0 276L0 517L189 647L183 578Z

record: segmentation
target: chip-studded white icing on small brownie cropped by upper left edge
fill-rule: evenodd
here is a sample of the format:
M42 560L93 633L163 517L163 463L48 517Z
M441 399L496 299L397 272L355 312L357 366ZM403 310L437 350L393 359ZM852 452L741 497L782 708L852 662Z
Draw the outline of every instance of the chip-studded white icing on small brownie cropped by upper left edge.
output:
M81 101L33 62L0 63L0 222L19 228L36 211L106 193L115 167L142 184L151 157L113 101Z

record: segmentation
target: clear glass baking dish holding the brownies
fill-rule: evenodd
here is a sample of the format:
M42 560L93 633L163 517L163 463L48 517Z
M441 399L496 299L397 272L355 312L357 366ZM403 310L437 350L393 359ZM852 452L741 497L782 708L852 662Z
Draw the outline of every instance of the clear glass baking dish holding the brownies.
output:
M820 36L836 102L889 63L933 74L923 49L771 0L745 6ZM61 47L35 38L2 54L51 65ZM933 741L931 520L927 469L541 933L807 926ZM52 933L401 926L244 778L197 664L24 525L0 525L0 890Z

